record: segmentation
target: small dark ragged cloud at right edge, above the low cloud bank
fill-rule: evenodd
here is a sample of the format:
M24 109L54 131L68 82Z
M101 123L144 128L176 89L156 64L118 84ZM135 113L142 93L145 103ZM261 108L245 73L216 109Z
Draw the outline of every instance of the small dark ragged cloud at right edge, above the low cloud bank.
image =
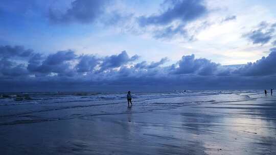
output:
M261 22L256 30L252 30L243 36L248 38L253 44L266 44L274 36L274 24Z

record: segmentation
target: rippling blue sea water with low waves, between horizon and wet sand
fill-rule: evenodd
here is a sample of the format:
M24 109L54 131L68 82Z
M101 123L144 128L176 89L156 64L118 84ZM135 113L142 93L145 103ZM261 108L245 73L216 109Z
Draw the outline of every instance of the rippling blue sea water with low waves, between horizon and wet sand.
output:
M126 113L126 93L36 92L3 93L0 98L0 125L74 119L83 116ZM19 94L19 95L18 95ZM16 100L28 94L29 98ZM132 113L174 109L198 104L218 104L253 100L261 90L180 90L133 92Z

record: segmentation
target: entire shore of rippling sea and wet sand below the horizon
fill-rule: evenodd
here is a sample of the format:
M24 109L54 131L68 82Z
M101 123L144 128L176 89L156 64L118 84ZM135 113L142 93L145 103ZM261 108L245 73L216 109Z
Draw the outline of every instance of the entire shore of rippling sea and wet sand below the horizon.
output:
M0 100L1 154L276 154L262 90L30 97Z

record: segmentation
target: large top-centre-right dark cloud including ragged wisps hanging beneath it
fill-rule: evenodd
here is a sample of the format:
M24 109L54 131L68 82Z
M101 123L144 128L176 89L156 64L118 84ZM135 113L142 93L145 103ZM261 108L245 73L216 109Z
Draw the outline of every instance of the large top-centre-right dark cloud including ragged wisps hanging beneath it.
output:
M201 0L167 0L161 6L162 11L157 14L137 17L140 28L149 30L155 39L180 37L192 41L194 37L193 34L188 33L192 31L189 31L190 28L187 28L187 25L209 13ZM202 24L206 25L205 22ZM200 28L197 29L199 30Z

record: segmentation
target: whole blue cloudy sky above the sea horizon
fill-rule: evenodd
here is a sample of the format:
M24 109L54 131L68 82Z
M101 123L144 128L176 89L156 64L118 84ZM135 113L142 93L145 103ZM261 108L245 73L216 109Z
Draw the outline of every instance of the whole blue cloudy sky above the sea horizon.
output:
M276 2L0 3L0 91L269 89Z

